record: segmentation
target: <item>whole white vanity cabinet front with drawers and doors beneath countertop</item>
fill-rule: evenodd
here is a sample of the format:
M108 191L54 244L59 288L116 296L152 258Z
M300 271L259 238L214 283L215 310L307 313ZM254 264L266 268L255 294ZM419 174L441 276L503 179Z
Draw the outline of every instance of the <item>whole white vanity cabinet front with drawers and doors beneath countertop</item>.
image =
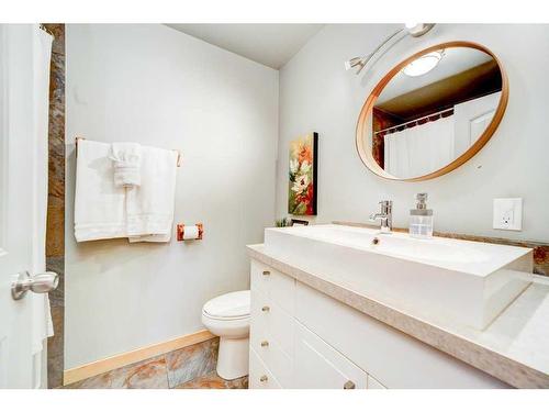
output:
M250 276L251 389L507 387L258 260Z

